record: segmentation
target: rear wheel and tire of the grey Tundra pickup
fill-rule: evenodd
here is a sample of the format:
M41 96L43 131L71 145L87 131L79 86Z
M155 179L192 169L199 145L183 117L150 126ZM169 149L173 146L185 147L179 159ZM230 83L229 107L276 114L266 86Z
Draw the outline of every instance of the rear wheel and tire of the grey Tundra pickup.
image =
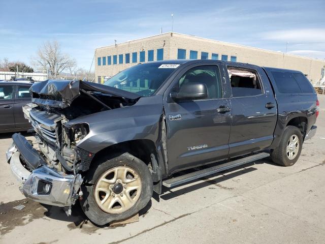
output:
M278 165L292 166L299 159L302 145L303 137L301 131L295 126L287 126L282 135L280 144L271 151L271 159Z

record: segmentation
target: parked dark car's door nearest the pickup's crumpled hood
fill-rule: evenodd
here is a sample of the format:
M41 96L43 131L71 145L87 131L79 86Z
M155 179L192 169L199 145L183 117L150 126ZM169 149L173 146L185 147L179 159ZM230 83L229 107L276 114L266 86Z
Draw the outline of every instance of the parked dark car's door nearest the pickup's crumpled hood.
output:
M30 124L24 117L22 107L31 102L29 93L30 85L16 85L16 99L14 107L14 116L16 121L16 128L29 128Z

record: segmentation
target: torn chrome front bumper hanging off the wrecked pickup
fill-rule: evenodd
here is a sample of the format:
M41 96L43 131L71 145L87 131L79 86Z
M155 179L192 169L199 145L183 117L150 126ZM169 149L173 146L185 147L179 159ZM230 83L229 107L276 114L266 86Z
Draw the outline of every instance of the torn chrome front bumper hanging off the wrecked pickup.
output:
M24 142L26 139L21 137L19 136L19 141ZM30 147L27 143L22 143L26 146L17 147L17 140L14 138L13 136L13 143L6 155L7 159L10 159L11 171L20 182L20 190L25 197L36 202L59 207L71 206L83 181L81 175L64 174L47 165L40 165L31 172L28 171L24 167L24 163L28 164L26 162L28 159L24 158L24 155L31 154L31 151L28 151ZM18 144L19 141L17 141ZM23 162L21 158L23 158Z

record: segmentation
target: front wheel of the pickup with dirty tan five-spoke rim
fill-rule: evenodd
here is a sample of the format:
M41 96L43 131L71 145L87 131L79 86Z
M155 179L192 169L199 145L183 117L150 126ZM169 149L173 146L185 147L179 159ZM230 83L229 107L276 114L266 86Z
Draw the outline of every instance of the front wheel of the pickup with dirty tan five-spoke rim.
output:
M152 197L153 182L149 168L129 153L99 159L92 164L84 182L81 186L81 208L89 220L99 226L137 214ZM137 190L132 190L134 188Z

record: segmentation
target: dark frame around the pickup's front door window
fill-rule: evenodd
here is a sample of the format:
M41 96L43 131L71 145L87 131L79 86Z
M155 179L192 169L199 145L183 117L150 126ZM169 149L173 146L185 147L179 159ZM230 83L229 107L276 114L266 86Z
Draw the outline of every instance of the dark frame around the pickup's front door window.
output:
M190 69L193 68L198 68L198 67L202 67L202 66L216 66L218 69L218 73L219 73L219 81L220 81L220 87L221 87L221 98L205 98L205 99L196 99L196 100L183 100L183 101L178 101L175 102L174 100L172 100L170 98L170 93L172 92L173 89L175 89L176 85L178 85L177 87L179 88L179 79ZM215 63L206 63L206 64L192 64L189 66L184 67L181 71L179 71L179 73L173 78L172 82L168 85L168 88L165 90L164 92L164 96L165 94L167 95L167 103L188 103L188 102L200 102L200 101L213 101L213 100L220 100L220 99L229 99L229 96L226 95L224 92L227 89L227 87L224 87L224 84L222 81L222 65L221 64L215 64ZM173 73L172 73L173 74ZM171 75L172 75L171 74ZM228 73L227 73L228 74Z

